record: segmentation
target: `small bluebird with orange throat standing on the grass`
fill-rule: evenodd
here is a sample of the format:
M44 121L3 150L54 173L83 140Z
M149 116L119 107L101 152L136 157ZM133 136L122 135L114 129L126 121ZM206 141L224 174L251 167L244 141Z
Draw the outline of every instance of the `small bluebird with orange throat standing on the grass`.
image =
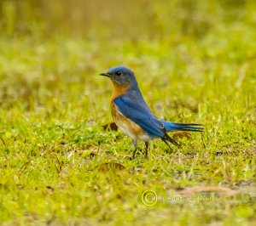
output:
M124 66L114 66L100 76L107 76L113 82L113 93L110 109L113 121L119 129L133 141L135 158L137 141L145 142L145 156L148 157L148 141L160 138L170 150L168 143L180 147L168 132L191 131L203 132L204 128L197 123L174 123L164 121L153 115L141 93L133 71Z

